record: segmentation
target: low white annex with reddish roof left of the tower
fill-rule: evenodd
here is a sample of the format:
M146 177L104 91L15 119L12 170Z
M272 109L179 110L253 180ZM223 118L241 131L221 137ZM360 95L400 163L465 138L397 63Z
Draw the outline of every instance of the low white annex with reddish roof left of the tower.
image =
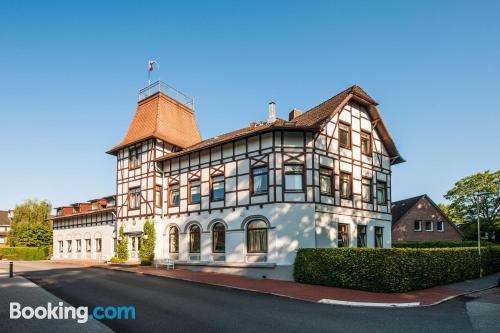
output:
M115 253L115 196L56 208L52 259L106 261Z

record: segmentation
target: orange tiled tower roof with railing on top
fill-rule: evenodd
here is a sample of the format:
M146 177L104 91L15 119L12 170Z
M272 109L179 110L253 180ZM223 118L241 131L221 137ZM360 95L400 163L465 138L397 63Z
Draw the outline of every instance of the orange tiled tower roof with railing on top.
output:
M125 138L107 153L116 155L118 150L149 138L161 139L180 148L197 144L201 135L194 111L158 88L139 101Z

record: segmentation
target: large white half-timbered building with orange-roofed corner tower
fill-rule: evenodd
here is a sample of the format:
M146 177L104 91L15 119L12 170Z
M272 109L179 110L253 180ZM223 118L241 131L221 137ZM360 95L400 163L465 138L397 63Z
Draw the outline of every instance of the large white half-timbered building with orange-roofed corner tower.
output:
M291 278L299 248L390 247L398 153L377 103L352 86L288 119L202 140L192 100L140 92L117 158L116 219L131 260L147 219L155 259L195 270Z

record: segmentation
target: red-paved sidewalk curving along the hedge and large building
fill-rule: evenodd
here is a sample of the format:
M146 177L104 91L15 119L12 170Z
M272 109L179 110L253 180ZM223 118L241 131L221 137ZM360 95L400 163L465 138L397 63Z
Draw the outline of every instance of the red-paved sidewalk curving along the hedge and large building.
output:
M244 289L312 302L351 306L382 307L413 307L434 305L475 290L495 287L498 284L498 279L500 278L500 273L497 273L484 277L482 279L464 281L448 286L440 286L406 293L375 293L369 291L325 287L289 281L270 279L257 280L249 279L247 277L239 275L212 272L193 272L183 269L167 270L165 268L154 268L150 266L118 265L107 265L99 267L198 283L206 283L230 288Z

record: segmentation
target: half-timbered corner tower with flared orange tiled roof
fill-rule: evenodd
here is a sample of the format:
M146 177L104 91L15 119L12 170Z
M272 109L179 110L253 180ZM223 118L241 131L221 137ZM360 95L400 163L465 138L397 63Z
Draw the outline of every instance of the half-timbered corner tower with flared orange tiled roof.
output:
M134 237L144 220L161 216L163 178L156 159L200 141L192 99L161 81L139 92L127 134L107 152L117 157L118 227L125 223L125 232Z

